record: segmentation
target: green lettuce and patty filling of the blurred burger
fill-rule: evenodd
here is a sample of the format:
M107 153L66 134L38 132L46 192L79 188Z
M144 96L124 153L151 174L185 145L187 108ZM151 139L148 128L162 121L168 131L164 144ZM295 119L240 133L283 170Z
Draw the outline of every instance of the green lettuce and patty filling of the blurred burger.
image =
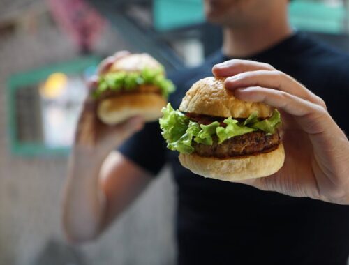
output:
M160 93L165 98L174 91L174 84L165 78L164 70L145 68L141 72L107 73L98 79L98 86L92 92L101 100L122 93Z

